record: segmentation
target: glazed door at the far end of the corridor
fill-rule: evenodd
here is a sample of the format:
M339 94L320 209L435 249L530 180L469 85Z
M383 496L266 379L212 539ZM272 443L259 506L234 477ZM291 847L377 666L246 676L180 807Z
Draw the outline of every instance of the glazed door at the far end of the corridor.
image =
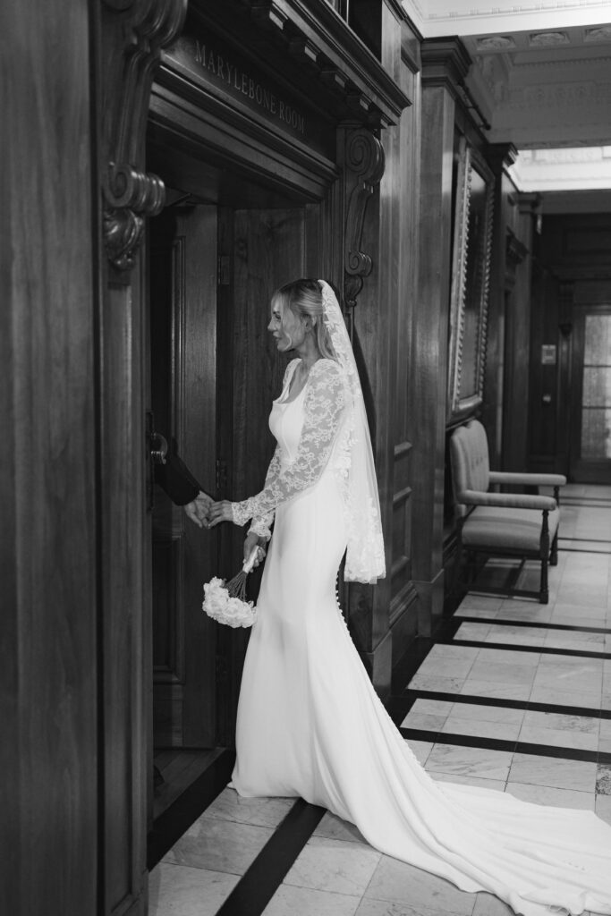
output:
M574 311L571 479L611 484L611 303Z

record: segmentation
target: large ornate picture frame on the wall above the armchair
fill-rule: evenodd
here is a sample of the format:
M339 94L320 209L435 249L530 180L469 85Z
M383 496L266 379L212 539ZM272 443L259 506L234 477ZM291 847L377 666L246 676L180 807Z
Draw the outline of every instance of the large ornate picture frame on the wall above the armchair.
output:
M455 174L448 417L460 420L484 397L486 322L495 179L464 136Z

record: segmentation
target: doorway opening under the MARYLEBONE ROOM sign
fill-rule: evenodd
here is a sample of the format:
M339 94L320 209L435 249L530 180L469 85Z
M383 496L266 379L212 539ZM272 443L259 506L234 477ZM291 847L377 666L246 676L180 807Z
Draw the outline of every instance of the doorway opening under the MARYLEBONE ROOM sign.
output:
M202 490L243 499L263 485L274 442L267 413L286 359L267 341L269 298L320 265L321 204L187 161L150 142L166 207L148 234L150 407ZM202 611L202 585L242 562L242 529L197 528L156 487L151 514L152 703L149 823L231 754L248 632ZM250 577L256 599L261 571ZM226 754L224 757L226 761ZM224 783L226 783L226 779ZM211 785L214 785L212 780ZM193 811L196 817L198 812Z

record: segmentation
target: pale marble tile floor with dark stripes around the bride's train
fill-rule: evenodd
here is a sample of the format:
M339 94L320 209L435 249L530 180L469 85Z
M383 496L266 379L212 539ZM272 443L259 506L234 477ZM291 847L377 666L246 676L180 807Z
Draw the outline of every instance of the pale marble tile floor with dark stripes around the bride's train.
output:
M611 823L611 487L569 485L563 497L550 604L467 595L452 636L396 698L395 721L435 780ZM292 807L224 789L152 869L151 916L510 916L489 894L382 855L329 812L269 899L241 904L243 876Z

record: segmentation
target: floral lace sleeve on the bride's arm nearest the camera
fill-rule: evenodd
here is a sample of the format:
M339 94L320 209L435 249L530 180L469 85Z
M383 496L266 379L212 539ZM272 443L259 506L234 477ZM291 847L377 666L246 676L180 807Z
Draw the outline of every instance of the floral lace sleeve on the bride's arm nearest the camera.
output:
M342 370L333 360L320 359L311 367L307 386L303 429L294 461L283 471L279 470L278 462L260 493L232 503L236 525L244 525L248 518L267 515L320 479L331 457L346 402Z

